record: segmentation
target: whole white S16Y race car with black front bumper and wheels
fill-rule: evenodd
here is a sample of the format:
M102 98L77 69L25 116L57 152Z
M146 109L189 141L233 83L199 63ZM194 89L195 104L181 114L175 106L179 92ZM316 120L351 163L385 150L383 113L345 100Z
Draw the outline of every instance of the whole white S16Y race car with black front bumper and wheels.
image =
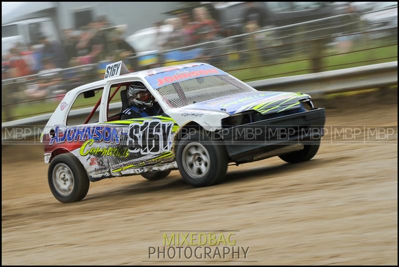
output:
M149 92L158 112L131 107L137 100L131 88ZM90 99L93 107L72 108ZM129 112L139 115L126 118ZM157 180L179 170L187 183L203 187L221 182L229 164L273 156L307 161L324 124L324 108L308 94L258 91L205 63L129 73L120 61L107 66L103 80L66 93L40 140L50 190L70 203L104 178Z

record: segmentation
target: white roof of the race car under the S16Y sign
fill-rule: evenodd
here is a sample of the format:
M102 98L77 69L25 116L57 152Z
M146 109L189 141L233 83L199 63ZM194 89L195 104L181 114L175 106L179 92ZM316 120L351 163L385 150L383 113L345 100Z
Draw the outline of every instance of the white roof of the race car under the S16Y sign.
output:
M116 76L116 77L112 77L112 78L108 78L108 79L103 79L103 80L87 83L87 84L81 85L79 87L76 87L75 89L72 89L71 92L80 91L83 88L102 87L109 81L118 81L118 80L120 80L122 78L123 79L125 79L125 78L141 78L141 79L145 79L148 76L155 75L155 74L160 74L160 73L163 73L163 72L166 72L166 71L175 70L175 69L190 68L190 67L200 66L200 65L208 65L209 66L209 64L197 62L197 63L186 63L186 64L167 66L167 67L151 68L151 69L146 69L146 70L126 73L126 74L122 74L122 75L119 75L119 76Z

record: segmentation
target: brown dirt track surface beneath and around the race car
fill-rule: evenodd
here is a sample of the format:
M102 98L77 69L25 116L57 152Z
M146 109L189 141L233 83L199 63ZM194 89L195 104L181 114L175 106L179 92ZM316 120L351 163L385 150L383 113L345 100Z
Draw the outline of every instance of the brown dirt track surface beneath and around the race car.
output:
M327 105L326 124L398 125L397 102L370 111L352 100ZM178 171L157 182L107 179L68 205L50 193L41 149L2 149L2 264L148 265L160 231L211 230L239 230L237 246L250 247L253 262L228 264L398 264L397 144L325 138L306 163L229 167L224 183L199 189Z

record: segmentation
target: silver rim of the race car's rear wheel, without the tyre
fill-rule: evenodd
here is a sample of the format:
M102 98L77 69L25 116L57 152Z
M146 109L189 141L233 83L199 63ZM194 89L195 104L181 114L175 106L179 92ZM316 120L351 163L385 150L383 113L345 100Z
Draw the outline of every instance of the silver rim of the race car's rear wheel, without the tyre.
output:
M71 169L64 163L58 163L53 169L53 185L57 193L67 197L73 190L73 174Z

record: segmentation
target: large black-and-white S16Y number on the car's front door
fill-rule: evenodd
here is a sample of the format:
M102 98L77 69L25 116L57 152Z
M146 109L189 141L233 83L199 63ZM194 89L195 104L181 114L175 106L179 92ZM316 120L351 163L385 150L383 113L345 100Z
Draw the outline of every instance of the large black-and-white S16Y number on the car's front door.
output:
M128 147L131 153L142 155L159 154L170 151L168 142L174 123L161 120L144 121L129 125Z

